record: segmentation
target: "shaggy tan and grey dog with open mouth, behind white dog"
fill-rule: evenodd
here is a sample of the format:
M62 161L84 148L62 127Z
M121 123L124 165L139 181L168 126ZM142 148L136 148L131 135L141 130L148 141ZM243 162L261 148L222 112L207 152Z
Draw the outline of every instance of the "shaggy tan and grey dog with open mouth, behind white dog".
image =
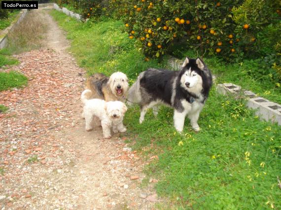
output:
M122 72L115 72L108 78L102 73L95 73L87 80L87 89L92 91L90 98L105 101L124 101L129 88L128 78Z

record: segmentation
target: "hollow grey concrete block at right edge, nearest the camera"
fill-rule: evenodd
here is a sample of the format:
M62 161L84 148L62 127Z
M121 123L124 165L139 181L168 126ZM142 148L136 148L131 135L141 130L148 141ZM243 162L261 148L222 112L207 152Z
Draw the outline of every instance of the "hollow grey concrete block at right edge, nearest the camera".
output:
M261 119L271 122L277 122L281 125L281 105L271 102L262 97L250 98L247 107L256 109L256 115Z

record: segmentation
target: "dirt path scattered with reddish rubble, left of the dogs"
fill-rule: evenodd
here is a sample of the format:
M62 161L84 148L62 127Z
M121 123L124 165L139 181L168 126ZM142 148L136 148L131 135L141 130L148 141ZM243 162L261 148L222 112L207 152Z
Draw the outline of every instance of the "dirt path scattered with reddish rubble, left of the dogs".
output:
M0 93L9 107L0 113L0 209L153 209L155 180L140 189L146 163L119 135L85 131L84 71L48 10L37 12L48 25L46 47L9 68L29 85Z

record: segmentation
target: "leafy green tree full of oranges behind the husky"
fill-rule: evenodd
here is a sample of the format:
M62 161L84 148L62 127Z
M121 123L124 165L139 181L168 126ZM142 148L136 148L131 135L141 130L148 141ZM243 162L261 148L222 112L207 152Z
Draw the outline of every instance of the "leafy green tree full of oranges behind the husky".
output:
M202 56L252 55L255 34L280 17L275 0L124 0L119 5L128 37L148 57L164 55L178 39Z

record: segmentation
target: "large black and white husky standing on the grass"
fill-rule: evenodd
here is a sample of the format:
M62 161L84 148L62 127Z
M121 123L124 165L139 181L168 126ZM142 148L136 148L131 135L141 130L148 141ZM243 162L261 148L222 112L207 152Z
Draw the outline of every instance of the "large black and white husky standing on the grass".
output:
M153 108L158 114L158 105L174 108L174 125L177 131L183 130L185 116L195 131L199 114L209 95L212 85L211 72L199 58L186 58L180 71L149 68L140 73L137 81L127 94L129 103L140 104L140 123L147 109Z

